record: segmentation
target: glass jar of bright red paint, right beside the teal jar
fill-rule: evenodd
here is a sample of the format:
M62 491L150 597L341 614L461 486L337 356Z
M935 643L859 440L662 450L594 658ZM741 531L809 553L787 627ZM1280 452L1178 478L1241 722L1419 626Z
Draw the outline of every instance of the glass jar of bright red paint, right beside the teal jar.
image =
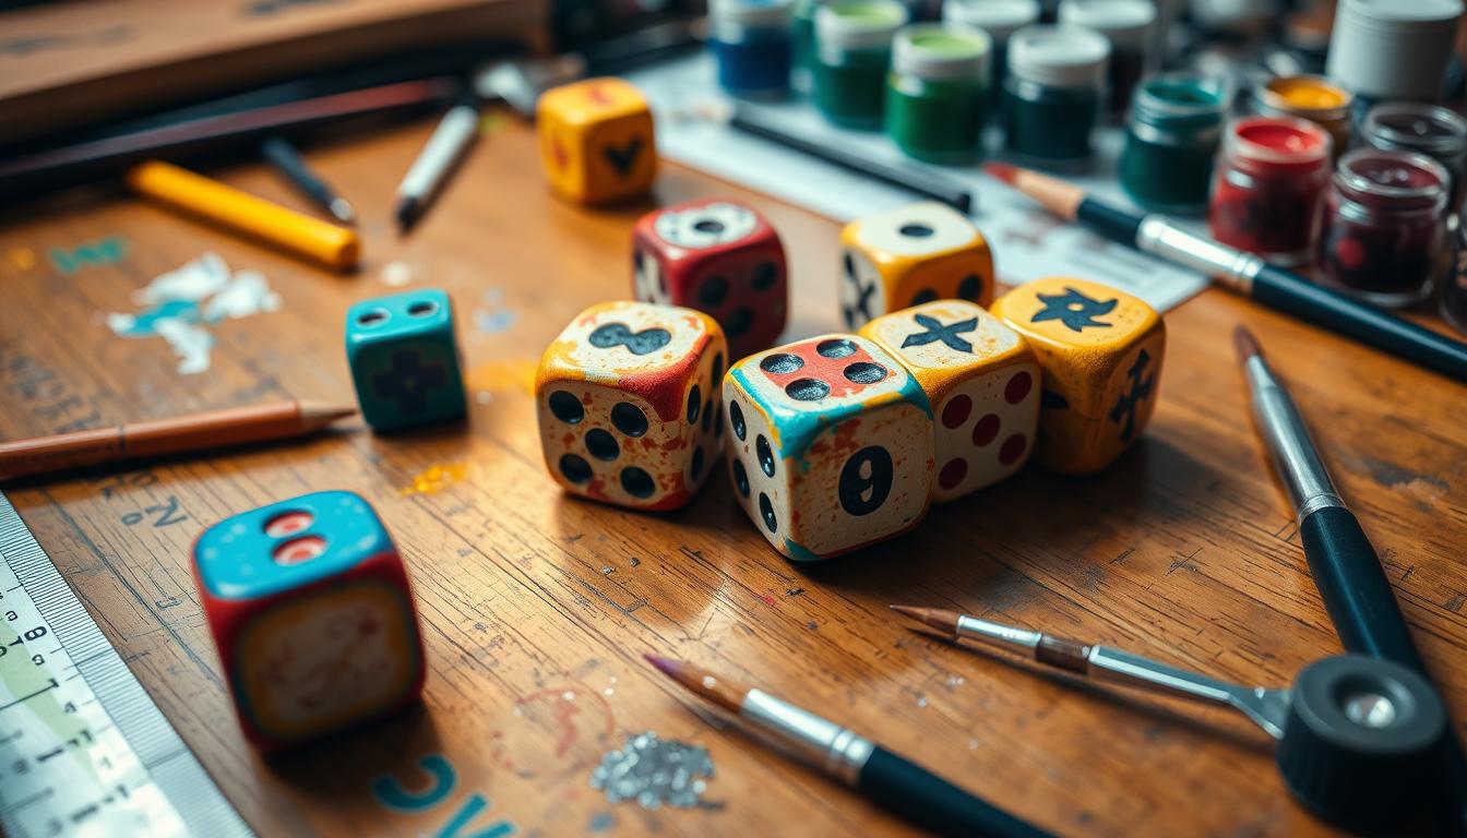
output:
M1276 264L1309 263L1331 145L1329 134L1304 119L1250 116L1229 123L1207 208L1212 236Z

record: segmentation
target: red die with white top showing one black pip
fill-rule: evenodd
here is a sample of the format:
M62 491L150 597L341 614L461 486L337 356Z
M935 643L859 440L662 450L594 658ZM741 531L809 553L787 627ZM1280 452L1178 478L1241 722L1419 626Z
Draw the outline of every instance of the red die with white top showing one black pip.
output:
M637 299L711 314L732 358L769 348L785 330L785 247L763 216L738 201L647 213L632 232L632 267Z

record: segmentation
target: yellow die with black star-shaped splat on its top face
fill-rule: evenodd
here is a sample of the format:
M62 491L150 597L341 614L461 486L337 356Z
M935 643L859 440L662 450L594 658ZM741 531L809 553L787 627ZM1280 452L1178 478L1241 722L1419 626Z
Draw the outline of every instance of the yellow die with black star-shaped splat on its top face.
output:
M1106 285L1036 279L993 302L1045 370L1039 449L1056 471L1090 474L1146 430L1156 408L1166 326L1146 302Z

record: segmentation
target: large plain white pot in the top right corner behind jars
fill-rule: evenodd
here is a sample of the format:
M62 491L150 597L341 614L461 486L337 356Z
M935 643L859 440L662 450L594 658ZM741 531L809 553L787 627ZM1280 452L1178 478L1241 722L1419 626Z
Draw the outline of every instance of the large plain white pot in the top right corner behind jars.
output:
M1341 0L1325 75L1363 98L1436 101L1461 16L1461 0Z

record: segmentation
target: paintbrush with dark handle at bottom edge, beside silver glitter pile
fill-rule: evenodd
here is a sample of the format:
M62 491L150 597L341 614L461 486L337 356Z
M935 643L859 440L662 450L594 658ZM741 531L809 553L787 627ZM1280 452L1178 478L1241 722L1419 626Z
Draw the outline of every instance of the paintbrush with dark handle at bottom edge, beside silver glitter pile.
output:
M926 829L940 835L1047 835L871 740L763 690L719 678L682 660L644 657L700 699Z

